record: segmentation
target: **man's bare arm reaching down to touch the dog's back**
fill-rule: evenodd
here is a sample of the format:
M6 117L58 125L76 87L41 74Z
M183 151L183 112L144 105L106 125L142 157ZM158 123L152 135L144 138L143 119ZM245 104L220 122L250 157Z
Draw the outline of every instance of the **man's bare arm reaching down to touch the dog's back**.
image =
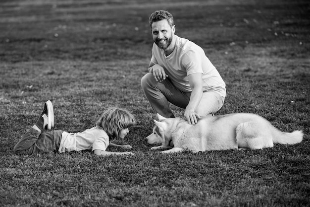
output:
M200 116L195 112L195 109L203 97L202 73L197 72L188 75L188 81L192 88L192 94L190 101L185 109L184 118L188 121L189 124L195 125L197 123L197 117L200 118Z

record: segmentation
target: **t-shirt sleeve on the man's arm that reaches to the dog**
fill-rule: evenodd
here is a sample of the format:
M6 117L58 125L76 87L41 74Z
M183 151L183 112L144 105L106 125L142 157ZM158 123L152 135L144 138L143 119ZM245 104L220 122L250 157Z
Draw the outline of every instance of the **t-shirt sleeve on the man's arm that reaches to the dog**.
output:
M202 58L199 52L190 49L183 55L183 58L181 60L182 65L186 69L187 75L197 72L204 72L202 68Z

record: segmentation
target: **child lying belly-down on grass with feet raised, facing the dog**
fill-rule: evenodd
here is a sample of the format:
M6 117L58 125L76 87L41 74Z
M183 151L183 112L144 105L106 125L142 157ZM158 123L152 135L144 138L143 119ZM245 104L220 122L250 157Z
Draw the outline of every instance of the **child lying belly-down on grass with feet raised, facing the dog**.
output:
M80 151L91 149L97 155L126 155L132 152L109 152L107 146L131 149L132 146L109 143L109 138L125 138L128 128L135 125L134 116L124 109L110 108L103 112L95 127L80 133L52 130L54 113L52 102L45 103L43 113L14 147L15 154L33 154L58 151Z

